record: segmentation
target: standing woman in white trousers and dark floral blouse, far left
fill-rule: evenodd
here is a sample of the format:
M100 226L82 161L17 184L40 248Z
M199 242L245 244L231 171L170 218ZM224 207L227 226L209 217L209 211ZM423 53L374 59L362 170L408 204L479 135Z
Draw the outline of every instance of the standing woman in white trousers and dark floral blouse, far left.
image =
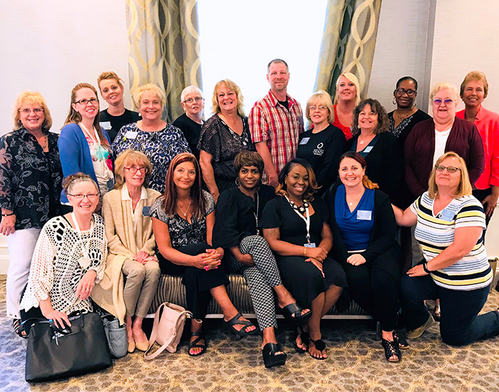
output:
M19 301L28 282L36 239L61 213L62 167L52 117L40 93L23 91L14 103L14 132L0 138L0 233L7 237L7 316L19 334Z

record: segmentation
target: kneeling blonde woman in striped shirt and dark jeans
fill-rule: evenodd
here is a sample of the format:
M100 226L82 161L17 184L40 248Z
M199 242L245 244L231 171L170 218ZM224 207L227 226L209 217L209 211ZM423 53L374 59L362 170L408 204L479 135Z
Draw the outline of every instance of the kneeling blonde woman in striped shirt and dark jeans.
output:
M485 214L472 195L463 158L453 152L439 157L431 170L428 192L407 210L393 210L398 225L417 222L415 235L424 254L423 261L401 279L407 337L418 338L434 323L424 300L436 298L441 303L444 343L461 346L497 336L499 311L478 316L493 274L483 246Z

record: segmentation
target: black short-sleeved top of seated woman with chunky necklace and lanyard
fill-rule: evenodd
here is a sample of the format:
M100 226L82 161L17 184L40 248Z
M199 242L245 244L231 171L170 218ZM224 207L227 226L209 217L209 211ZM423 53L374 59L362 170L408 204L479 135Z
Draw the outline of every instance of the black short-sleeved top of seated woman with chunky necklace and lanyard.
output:
M311 204L314 214L310 215L310 242L315 242L318 247L322 240L324 222L329 220L329 210L322 199L316 198ZM264 229L279 227L281 241L300 246L307 243L307 224L294 212L284 196L276 197L267 203L261 225Z

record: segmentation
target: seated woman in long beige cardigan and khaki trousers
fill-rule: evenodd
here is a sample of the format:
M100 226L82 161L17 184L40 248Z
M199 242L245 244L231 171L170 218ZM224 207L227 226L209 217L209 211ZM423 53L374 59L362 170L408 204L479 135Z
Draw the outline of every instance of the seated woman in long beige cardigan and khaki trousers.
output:
M129 353L149 348L142 321L160 279L149 210L161 194L144 185L152 169L143 153L125 150L115 160L115 189L103 197L109 255L92 299L126 325Z

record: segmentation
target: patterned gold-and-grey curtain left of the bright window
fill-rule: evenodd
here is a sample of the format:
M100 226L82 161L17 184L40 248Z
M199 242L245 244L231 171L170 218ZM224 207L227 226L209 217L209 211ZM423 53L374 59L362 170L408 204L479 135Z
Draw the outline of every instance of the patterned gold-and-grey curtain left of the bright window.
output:
M130 90L160 86L171 122L183 113L182 90L202 88L196 0L126 0L126 15Z

